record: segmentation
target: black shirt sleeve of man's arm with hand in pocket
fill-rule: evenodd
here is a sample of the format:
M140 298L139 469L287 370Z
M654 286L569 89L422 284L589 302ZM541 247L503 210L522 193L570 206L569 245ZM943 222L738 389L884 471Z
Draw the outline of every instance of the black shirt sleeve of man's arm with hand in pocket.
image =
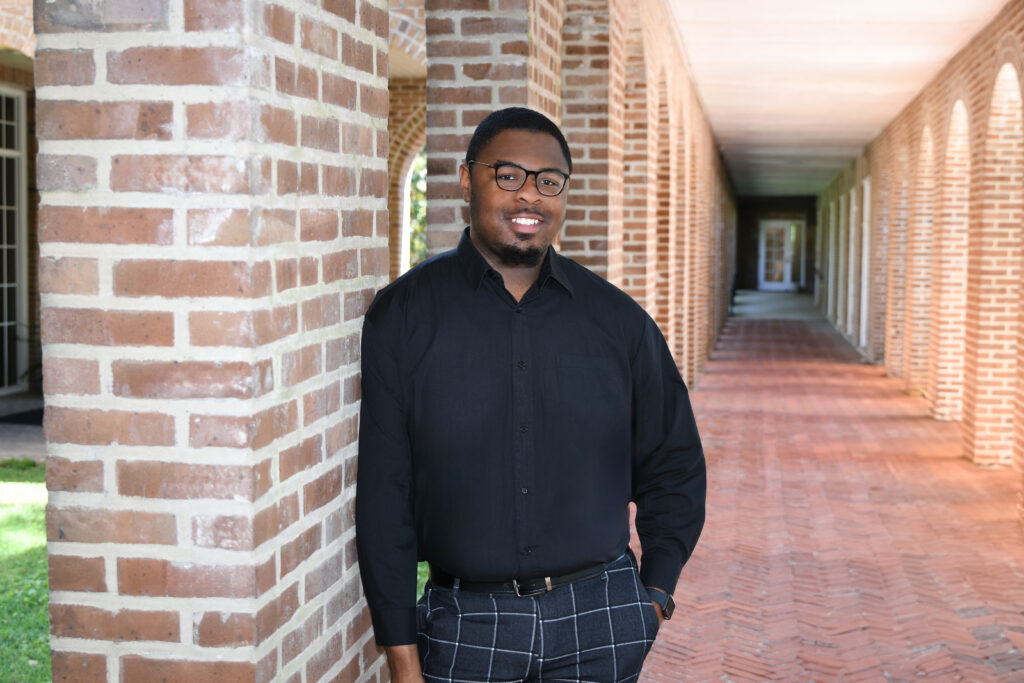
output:
M669 595L705 521L707 469L689 394L657 326L644 315L633 362L633 500L640 578Z

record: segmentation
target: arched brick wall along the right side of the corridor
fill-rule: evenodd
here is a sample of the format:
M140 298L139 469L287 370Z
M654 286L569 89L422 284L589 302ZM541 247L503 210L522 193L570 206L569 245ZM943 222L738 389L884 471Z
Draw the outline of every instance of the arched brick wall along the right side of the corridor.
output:
M871 254L884 361L965 455L1024 467L1024 2L1013 0L841 174L822 200L886 174L886 258ZM827 287L825 302L837 293ZM879 308L884 307L884 310ZM1016 398L1015 398L1016 396ZM1022 488L1024 492L1024 488ZM1022 497L1024 501L1024 497ZM1022 504L1024 505L1024 504ZM1024 514L1024 507L1022 507Z

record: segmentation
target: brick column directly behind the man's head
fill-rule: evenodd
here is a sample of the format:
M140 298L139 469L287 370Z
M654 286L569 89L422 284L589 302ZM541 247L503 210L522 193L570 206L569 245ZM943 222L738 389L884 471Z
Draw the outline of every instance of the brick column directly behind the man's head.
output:
M459 164L476 125L504 106L529 106L557 123L561 26L557 0L426 2L431 254L453 248L469 220Z

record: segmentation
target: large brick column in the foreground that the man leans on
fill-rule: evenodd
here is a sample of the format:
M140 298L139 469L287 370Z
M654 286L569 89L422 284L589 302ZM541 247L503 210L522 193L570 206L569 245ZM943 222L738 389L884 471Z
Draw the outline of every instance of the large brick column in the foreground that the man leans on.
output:
M36 6L54 680L376 680L386 5Z

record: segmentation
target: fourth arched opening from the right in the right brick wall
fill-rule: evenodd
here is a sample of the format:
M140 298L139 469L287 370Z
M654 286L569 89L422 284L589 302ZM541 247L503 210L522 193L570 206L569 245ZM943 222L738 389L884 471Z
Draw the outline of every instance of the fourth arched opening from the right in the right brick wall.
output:
M906 233L907 233L907 152L900 142L896 150L890 177L893 179L889 198L889 276L886 290L886 371L891 377L903 377L903 323L906 301Z

